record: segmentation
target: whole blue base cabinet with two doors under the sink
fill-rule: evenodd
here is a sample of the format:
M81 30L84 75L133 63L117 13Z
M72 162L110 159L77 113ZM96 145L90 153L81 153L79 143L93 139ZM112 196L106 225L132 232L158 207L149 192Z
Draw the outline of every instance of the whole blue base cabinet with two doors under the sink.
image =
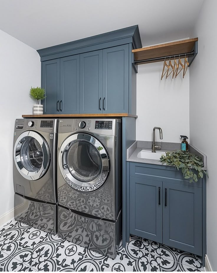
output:
M204 258L206 180L189 183L174 167L137 162L128 179L129 233Z

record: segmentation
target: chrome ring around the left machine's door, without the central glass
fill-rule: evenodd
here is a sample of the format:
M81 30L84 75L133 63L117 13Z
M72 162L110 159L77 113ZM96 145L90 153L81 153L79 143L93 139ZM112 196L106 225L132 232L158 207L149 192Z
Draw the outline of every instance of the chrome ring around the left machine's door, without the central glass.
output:
M35 172L30 172L27 169L25 169L25 167L22 164L22 158L20 153L16 156L16 149L18 144L20 143L20 141L24 138L24 137L32 137L34 139L37 140L37 142L40 144L41 148L42 148L42 152L43 152L43 162L42 162L42 166L39 170L35 171ZM22 145L21 145L22 146ZM47 163L45 161L45 157L47 157ZM19 173L26 179L28 180L37 180L40 177L42 177L45 172L47 171L49 165L50 165L50 150L48 147L48 144L45 142L45 140L43 139L43 137L40 136L40 134L34 132L34 131L25 131L23 132L16 140L15 144L14 144L14 163L17 167L17 170L19 171ZM19 165L18 165L19 163Z

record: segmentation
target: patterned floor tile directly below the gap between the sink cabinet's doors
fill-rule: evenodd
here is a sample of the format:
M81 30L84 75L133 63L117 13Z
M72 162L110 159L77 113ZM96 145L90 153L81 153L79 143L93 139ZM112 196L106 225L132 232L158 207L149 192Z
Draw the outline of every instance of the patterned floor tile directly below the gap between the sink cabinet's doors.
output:
M177 262L176 249L161 243L151 242L150 253Z

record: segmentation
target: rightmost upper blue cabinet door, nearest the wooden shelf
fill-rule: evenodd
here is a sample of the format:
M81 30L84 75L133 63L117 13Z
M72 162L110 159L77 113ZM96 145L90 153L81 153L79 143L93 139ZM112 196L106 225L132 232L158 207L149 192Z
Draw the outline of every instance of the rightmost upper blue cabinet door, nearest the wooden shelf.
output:
M128 113L129 45L103 49L103 113Z

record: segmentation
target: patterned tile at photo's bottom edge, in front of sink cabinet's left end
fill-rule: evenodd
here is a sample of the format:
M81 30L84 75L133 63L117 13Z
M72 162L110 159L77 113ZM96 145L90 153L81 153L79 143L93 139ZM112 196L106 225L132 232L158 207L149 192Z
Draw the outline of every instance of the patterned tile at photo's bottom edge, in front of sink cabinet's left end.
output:
M136 248L124 249L119 271L149 271L149 253Z

